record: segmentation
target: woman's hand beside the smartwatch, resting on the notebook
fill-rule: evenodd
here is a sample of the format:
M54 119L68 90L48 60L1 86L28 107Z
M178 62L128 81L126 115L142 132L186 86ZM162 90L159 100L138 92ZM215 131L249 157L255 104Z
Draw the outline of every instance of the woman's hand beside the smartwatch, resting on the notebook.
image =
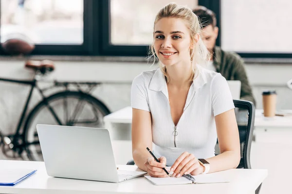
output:
M194 154L183 152L183 154L173 163L170 172L172 177L182 177L184 174L199 175L204 172L202 166Z

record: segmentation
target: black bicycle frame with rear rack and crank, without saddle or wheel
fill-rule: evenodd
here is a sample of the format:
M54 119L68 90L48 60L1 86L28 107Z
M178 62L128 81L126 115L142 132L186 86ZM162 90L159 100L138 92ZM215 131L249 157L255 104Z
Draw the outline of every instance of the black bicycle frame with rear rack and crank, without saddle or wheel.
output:
M15 79L4 79L4 78L0 78L0 81L3 82L12 82L12 83L17 83L17 84L24 84L24 85L30 85L30 91L28 93L28 96L26 97L26 101L25 101L25 105L23 107L22 113L20 115L20 118L18 120L18 125L17 125L17 129L14 132L11 132L7 135L4 135L1 133L0 131L0 144L3 143L4 146L2 146L2 152L5 154L6 151L4 150L13 150L13 155L14 153L18 153L18 157L22 158L21 153L26 150L26 147L28 145L33 145L33 144L39 144L39 142L30 142L27 143L25 142L25 117L26 114L28 112L28 105L31 101L32 98L32 94L35 88L37 88L39 94L41 95L42 99L40 100L39 103L44 103L46 105L46 107L49 109L49 112L52 113L53 117L55 118L55 121L58 125L63 125L62 122L60 121L59 117L57 116L57 114L55 113L55 110L52 108L52 106L49 104L48 99L50 99L50 97L52 97L53 95L49 95L48 97L45 96L44 94L46 93L46 91L55 88L55 87L64 87L64 91L72 91L71 88L69 86L74 86L78 92L80 93L84 93L87 95L90 95L91 91L98 85L101 84L101 82L77 82L77 81L50 81L51 83L53 83L50 86L45 86L45 87L40 87L38 86L37 82L40 81L40 78L44 75L46 75L46 72L40 72L39 70L36 70L36 74L33 78L33 80L15 80ZM42 81L41 81L42 82ZM86 87L84 87L86 86ZM79 100L75 110L78 110L81 106L82 100ZM67 101L64 101L64 103L67 103ZM67 104L66 104L67 106ZM35 107L36 108L36 107ZM33 109L34 110L34 109ZM33 111L32 110L32 111ZM74 111L74 113L77 113L77 111ZM29 117L30 114L28 114ZM73 118L76 115L73 115ZM26 118L28 119L28 118ZM22 127L23 126L23 127ZM5 145L8 146L8 149L5 148ZM27 152L27 150L26 150ZM7 156L7 155L6 155ZM10 157L10 156L8 156ZM15 157L12 156L12 157ZM29 156L28 156L29 157Z

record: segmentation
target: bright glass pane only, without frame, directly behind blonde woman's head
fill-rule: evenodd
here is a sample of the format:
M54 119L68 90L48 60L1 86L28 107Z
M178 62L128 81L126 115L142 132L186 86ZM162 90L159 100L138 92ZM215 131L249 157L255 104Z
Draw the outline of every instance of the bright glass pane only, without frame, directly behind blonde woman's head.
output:
M197 0L176 0L194 8ZM110 0L110 44L150 45L157 12L175 0Z

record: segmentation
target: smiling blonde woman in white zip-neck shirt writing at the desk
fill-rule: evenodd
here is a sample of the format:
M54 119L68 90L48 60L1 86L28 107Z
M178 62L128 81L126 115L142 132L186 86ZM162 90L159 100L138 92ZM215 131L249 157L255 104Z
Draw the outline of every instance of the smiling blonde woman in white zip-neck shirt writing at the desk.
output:
M141 73L132 83L133 159L152 177L166 177L165 165L171 166L174 177L181 177L236 168L240 161L227 81L197 66L208 55L200 30L198 17L189 8L175 3L162 8L151 45L160 68ZM217 138L221 154L215 156ZM146 150L152 150L152 143L160 162Z

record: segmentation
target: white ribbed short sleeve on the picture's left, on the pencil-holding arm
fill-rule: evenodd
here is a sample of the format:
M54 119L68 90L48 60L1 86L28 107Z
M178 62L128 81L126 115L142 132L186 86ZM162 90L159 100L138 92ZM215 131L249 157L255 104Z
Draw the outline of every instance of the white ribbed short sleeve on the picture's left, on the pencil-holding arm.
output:
M131 107L150 112L143 74L137 76L132 82Z

